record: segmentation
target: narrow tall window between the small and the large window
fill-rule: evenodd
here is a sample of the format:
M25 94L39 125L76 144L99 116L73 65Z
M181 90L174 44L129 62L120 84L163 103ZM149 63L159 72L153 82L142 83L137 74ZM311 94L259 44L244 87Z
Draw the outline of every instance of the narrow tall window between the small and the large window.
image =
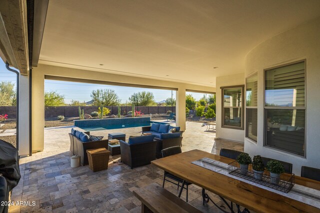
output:
M258 77L254 74L245 80L245 137L256 143L257 140L257 85Z

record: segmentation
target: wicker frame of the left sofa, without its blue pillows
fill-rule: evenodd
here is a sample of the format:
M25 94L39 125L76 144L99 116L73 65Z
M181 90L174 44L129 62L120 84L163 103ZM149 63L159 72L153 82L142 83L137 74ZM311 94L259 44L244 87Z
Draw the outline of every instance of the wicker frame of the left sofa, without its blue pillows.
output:
M89 135L87 132L85 133ZM101 141L82 142L79 138L73 136L73 142L74 142L74 147L76 146L77 148L77 153L75 155L80 156L81 166L85 166L89 164L86 150L99 149L99 148L108 149L108 139L101 140Z

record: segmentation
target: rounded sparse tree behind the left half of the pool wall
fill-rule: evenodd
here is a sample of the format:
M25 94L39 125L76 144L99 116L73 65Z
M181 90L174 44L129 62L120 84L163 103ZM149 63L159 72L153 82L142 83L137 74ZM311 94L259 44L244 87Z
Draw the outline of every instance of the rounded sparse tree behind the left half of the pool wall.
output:
M97 89L91 92L93 106L115 106L120 102L119 97L112 89Z

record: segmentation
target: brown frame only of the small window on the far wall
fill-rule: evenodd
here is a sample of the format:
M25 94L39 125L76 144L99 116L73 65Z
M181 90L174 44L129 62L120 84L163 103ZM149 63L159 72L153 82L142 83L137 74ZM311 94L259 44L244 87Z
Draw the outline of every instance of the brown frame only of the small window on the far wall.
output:
M224 107L224 89L233 89L233 88L240 88L241 89L241 106L239 107ZM244 85L234 85L234 86L222 86L221 89L221 128L227 128L227 129L237 129L237 130L244 130ZM224 108L241 108L241 126L235 127L235 126L228 126L224 125Z

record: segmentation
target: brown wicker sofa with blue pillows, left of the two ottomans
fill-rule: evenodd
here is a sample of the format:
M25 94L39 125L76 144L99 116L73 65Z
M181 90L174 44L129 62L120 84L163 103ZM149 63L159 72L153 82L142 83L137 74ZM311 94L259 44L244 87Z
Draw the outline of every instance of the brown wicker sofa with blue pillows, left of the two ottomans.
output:
M89 149L99 149L105 148L108 149L108 139L100 141L89 141L88 136L90 132L81 132L74 130L69 133L70 137L70 151L73 155L80 156L81 166L88 165L88 156L86 150Z

